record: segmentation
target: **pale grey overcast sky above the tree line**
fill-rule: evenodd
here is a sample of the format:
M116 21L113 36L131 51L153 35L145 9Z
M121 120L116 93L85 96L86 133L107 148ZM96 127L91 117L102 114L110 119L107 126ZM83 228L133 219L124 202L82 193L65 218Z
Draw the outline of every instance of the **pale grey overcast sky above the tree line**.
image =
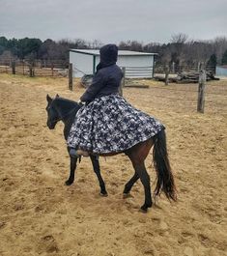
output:
M227 0L0 0L0 36L168 43L227 36Z

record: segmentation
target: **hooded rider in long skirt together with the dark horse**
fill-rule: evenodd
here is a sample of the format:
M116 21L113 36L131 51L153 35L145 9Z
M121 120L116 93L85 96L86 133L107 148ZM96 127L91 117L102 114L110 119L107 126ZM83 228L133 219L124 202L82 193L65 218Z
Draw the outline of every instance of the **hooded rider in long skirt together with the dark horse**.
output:
M99 170L97 156L126 154L134 168L134 175L125 185L124 195L140 179L144 186L145 202L142 211L152 207L150 176L145 159L153 147L156 170L155 196L161 191L176 201L174 176L168 159L165 128L155 118L131 106L118 93L123 73L116 65L118 48L107 44L100 48L100 62L91 86L80 100L85 104L47 96L47 126L54 128L58 121L65 124L64 135L71 155L71 174L66 185L74 181L79 156L90 156L99 179L100 194L107 195Z

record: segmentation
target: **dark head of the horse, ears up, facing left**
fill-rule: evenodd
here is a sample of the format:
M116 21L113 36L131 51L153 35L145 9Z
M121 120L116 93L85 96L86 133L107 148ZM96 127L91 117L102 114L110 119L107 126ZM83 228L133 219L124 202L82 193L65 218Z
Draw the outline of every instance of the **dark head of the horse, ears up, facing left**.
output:
M57 95L56 98L59 96ZM58 121L60 121L60 116L56 108L54 107L54 99L51 99L48 95L46 95L47 106L45 108L47 112L47 122L46 125L48 128L55 128Z

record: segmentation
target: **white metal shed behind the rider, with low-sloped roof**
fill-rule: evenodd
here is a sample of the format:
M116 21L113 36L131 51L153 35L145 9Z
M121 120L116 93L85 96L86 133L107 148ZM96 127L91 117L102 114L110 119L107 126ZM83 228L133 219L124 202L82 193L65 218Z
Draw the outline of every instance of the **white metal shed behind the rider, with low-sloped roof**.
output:
M126 77L153 77L156 55L156 53L119 50L117 65L125 68ZM74 77L94 74L99 64L99 50L71 49L70 63Z

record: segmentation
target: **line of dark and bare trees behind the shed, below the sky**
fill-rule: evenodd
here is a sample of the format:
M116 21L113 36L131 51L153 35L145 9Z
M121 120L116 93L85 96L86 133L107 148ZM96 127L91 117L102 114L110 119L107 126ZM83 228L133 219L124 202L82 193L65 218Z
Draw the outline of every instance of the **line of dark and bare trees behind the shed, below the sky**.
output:
M42 41L34 38L7 39L0 37L0 60L41 60L69 63L69 50L99 49L103 43L95 40L86 42L81 39L61 40L51 39ZM126 41L118 44L121 50L133 50L157 53L156 64L194 67L198 63L215 67L227 65L227 38L218 37L211 41L194 41L188 39L184 33L173 35L169 43L140 43Z

